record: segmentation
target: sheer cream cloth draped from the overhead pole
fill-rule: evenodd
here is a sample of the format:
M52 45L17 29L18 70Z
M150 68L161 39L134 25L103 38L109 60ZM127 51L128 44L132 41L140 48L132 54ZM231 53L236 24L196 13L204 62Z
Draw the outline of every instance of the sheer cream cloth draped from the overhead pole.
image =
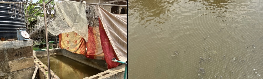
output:
M60 33L74 31L88 42L88 21L85 2L54 0L56 17L48 27L50 34L57 36Z

